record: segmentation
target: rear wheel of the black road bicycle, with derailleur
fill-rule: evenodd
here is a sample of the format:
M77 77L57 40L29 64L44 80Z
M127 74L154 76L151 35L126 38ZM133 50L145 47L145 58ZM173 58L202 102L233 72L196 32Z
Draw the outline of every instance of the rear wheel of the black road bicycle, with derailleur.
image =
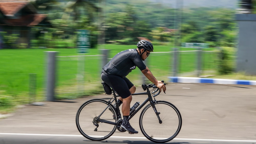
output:
M112 113L107 106L107 101L103 99L91 99L80 106L76 115L76 125L77 129L84 137L90 140L100 141L107 139L114 134L116 125L95 120L99 118L113 123L116 122L116 112L114 107L112 105L109 106L114 112ZM106 110L104 111L104 109ZM100 116L101 113L102 115ZM113 115L115 119L113 118ZM95 131L95 128L97 128L97 131Z

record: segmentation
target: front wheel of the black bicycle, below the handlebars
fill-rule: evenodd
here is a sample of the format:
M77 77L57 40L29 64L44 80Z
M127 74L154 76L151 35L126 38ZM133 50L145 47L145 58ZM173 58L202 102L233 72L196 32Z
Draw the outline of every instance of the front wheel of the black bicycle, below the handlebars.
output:
M159 122L152 105L148 104L140 115L141 132L153 142L168 142L174 139L181 129L180 112L173 104L166 101L157 101L155 107L161 122Z

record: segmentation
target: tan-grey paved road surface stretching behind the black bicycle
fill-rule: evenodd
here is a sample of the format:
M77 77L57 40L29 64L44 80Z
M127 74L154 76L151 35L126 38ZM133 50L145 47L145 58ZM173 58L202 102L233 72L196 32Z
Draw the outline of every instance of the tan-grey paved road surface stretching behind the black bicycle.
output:
M156 99L173 103L180 110L183 118L182 130L176 137L177 139L172 140L171 143L225 143L225 141L214 140L234 140L230 143L256 143L256 86L181 83L170 83L166 86L166 94L161 93ZM136 92L142 92L142 88L137 87ZM61 143L62 138L54 136L56 134L76 135L76 137L69 137L69 139L87 141L86 138L79 137L80 133L76 128L77 109L83 102L91 98L105 99L109 97L111 95L98 95L73 100L44 102L45 106L26 105L12 116L0 119L0 133L2 133L0 134L0 143L3 143L8 137L11 137L10 139L38 139L43 143L48 143L47 140L49 139L59 139L59 143ZM132 104L136 101L143 102L145 98L146 96L133 96ZM140 130L138 117L139 115L130 121L136 130ZM3 133L53 134L53 136L47 138L34 136L31 138L31 136ZM123 138L131 136L126 132L115 133L113 136L122 137L114 139L117 143L132 143ZM132 136L144 137L141 132ZM195 142L193 139L214 140ZM108 142L110 142L109 140L112 138L107 139ZM133 141L133 139L127 140ZM150 142L147 139L134 141ZM72 141L72 143L76 142Z

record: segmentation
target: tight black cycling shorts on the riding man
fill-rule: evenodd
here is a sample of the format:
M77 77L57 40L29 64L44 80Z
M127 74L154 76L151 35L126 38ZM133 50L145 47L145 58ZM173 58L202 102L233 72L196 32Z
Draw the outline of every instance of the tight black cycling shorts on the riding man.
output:
M101 79L108 84L119 96L127 98L131 95L130 88L133 87L133 83L126 77L101 73Z

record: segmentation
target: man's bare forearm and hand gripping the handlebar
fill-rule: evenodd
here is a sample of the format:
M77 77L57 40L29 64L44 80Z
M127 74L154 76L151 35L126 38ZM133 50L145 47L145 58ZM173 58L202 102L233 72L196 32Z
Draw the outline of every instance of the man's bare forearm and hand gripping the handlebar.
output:
M165 92L166 87L163 84L163 82L157 81L156 78L154 77L154 75L148 69L148 67L146 67L146 69L142 70L141 72L148 78L148 80L150 80L152 83L154 83L160 89L160 91L163 89L163 91Z

